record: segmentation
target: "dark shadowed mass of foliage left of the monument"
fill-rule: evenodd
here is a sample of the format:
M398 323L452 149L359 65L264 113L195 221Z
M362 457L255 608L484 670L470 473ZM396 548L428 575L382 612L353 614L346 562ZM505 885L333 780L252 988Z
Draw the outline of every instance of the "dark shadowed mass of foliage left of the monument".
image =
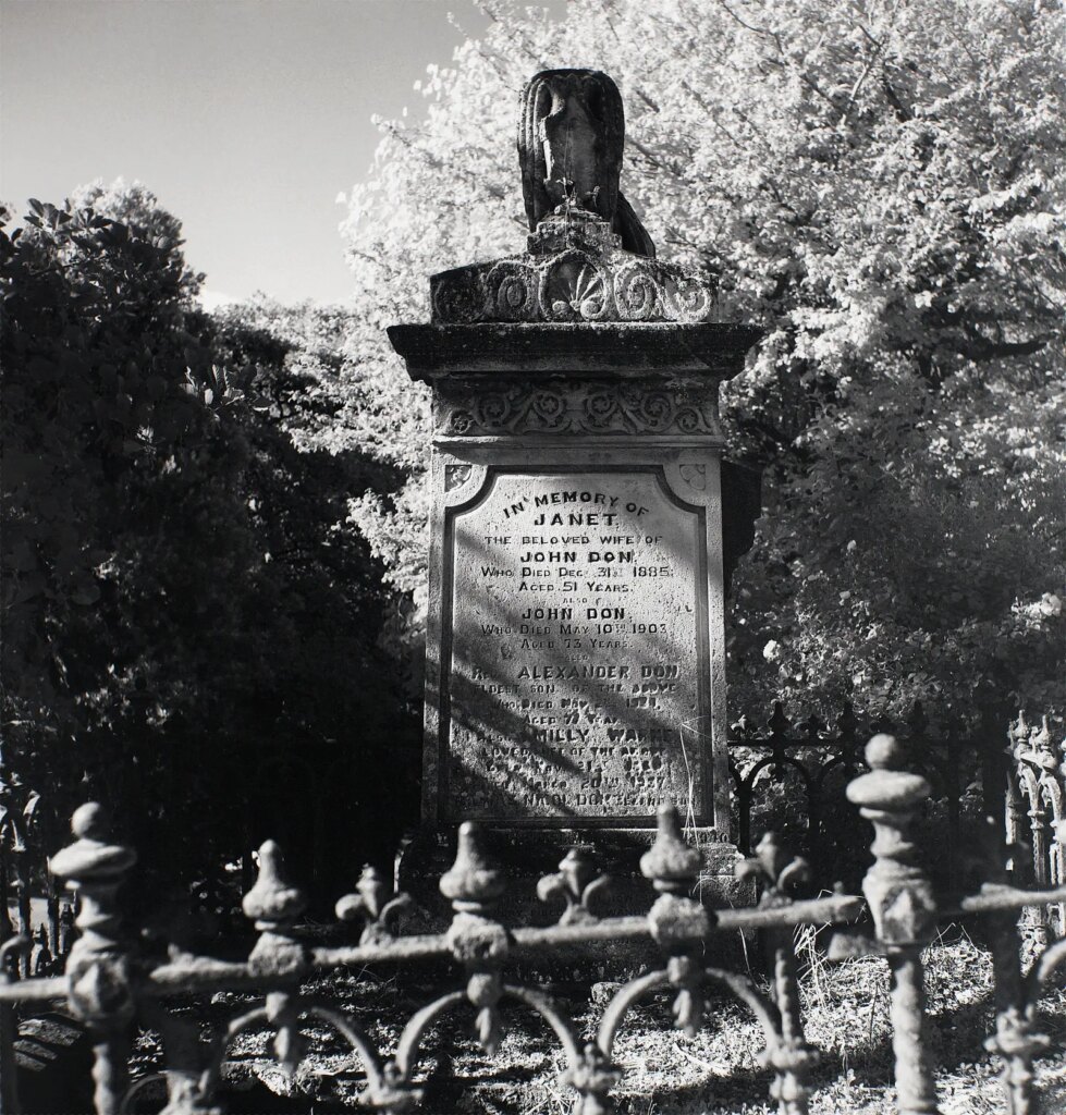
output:
M0 240L8 777L46 844L95 795L173 875L270 833L322 882L330 843L398 823L362 788L410 734L343 524L380 468L301 440L329 408L293 343L197 310L143 187L30 210Z

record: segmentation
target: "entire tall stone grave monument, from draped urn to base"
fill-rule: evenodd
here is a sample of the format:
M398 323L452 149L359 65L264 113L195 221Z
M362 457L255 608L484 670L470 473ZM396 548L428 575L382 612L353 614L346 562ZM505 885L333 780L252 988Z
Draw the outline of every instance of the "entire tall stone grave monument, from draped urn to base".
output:
M727 485L724 522L718 385L758 333L715 320L710 275L655 258L619 192L622 139L609 77L534 77L527 250L434 275L432 322L389 329L433 390L410 854L443 854L473 820L531 874L574 844L636 873L672 802L721 896L736 859L724 598L758 506Z

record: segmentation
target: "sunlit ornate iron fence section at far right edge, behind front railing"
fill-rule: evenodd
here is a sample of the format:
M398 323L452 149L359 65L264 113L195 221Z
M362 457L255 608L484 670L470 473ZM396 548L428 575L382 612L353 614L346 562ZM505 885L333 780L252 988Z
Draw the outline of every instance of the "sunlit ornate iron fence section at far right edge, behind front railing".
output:
M1012 759L1007 792L1007 840L1027 844L1038 886L1066 883L1066 737L1053 737L1050 717L1030 725L1024 711L1010 726ZM1066 902L1031 911L1029 928L1040 943L1066 937Z

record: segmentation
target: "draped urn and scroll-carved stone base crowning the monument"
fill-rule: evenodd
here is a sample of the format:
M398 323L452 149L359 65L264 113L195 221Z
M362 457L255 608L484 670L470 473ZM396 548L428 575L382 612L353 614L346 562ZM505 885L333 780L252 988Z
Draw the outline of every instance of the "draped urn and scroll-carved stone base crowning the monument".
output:
M714 277L657 261L619 192L623 136L621 97L607 75L537 74L519 119L526 251L434 275L433 321L714 320Z

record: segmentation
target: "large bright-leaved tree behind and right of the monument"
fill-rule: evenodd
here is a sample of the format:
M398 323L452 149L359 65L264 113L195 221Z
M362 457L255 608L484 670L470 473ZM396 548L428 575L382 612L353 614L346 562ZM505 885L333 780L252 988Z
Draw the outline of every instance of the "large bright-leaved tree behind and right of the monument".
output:
M765 477L734 708L1062 700L1062 7L485 7L484 39L430 68L425 123L381 124L346 226L353 343L391 416L369 442L410 475L352 513L395 582L423 575L426 414L382 327L426 316L429 273L521 244L515 95L590 66L622 89L652 237L764 330L724 392L729 452Z

